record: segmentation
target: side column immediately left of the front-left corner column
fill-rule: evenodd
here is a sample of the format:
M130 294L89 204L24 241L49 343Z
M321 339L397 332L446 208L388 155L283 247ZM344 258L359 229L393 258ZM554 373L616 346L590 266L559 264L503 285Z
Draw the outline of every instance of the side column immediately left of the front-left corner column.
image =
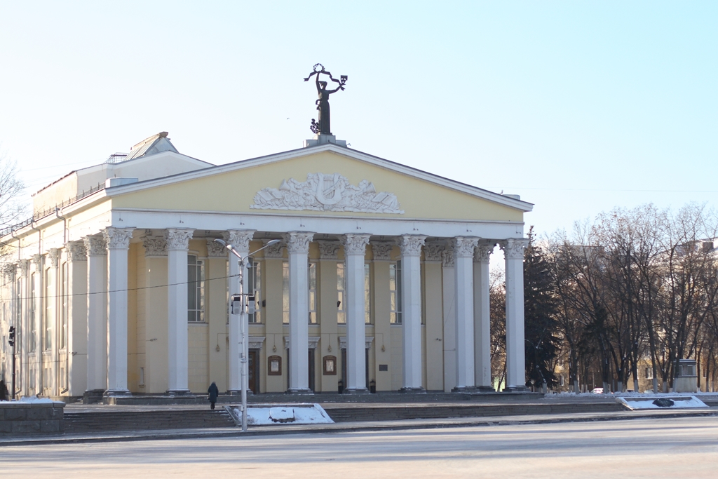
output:
M97 396L107 389L107 249L102 236L86 236L88 255L88 385Z

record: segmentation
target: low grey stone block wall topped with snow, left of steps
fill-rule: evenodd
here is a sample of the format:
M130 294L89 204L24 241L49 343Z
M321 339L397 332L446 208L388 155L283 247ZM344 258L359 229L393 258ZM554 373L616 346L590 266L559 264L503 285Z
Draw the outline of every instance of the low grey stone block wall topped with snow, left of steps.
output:
M62 402L0 402L0 436L62 434Z

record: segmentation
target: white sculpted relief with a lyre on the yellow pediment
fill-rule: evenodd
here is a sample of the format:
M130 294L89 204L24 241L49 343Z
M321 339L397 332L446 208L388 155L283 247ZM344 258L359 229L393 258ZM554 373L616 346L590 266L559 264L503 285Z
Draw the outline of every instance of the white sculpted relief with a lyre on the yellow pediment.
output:
M404 214L393 193L376 192L374 184L367 180L354 186L339 173L309 173L305 182L282 180L279 189L259 190L249 208Z

